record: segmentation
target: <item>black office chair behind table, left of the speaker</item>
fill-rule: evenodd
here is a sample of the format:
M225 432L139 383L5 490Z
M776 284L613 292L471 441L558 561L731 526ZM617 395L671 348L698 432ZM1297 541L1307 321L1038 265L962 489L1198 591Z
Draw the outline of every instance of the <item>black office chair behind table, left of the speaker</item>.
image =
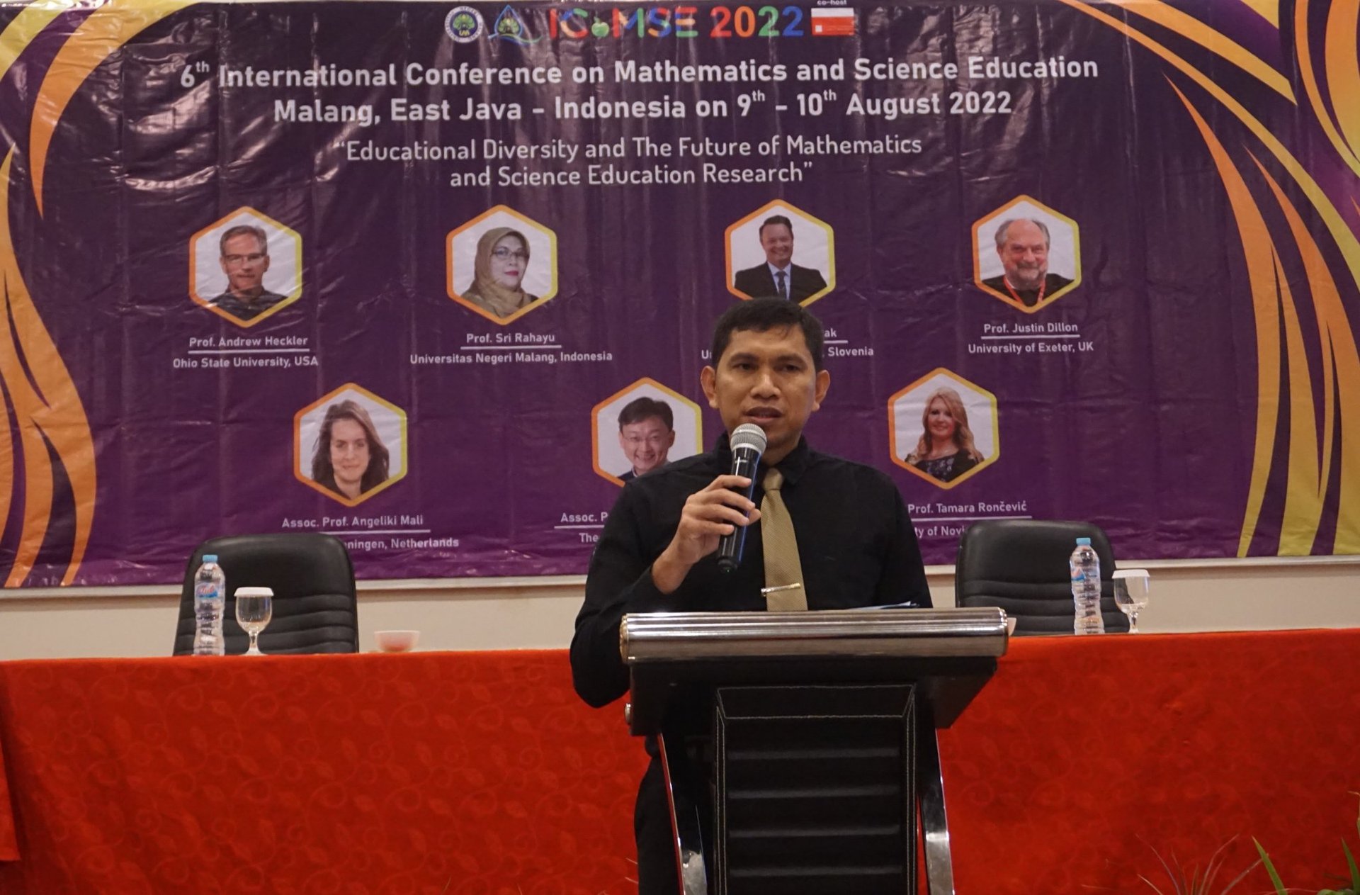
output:
M358 653L359 608L354 564L329 535L238 535L199 544L184 573L174 654L193 652L193 575L216 554L227 577L223 632L227 654L245 653L250 637L237 624L237 588L272 588L273 620L260 634L265 653Z

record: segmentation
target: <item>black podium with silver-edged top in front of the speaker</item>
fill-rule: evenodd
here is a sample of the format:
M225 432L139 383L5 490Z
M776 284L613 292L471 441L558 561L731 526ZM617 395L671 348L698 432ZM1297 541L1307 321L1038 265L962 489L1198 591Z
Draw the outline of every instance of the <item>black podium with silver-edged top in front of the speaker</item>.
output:
M952 895L934 732L996 672L1001 609L627 615L619 635L684 895L915 895L918 812L929 892Z

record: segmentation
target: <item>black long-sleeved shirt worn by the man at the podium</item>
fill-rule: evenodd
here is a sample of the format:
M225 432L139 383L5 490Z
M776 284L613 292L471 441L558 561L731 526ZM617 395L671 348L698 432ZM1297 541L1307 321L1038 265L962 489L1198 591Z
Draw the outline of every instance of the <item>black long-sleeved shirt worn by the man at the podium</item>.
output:
M849 609L911 601L930 605L921 548L896 486L883 472L811 450L806 441L777 464L793 517L809 609ZM651 581L656 560L680 524L685 498L732 471L724 435L714 450L676 460L624 486L590 556L586 598L571 639L577 692L593 706L628 690L619 656L627 612L721 612L766 608L760 524L747 530L741 564L718 569L715 555L695 563L684 584L662 594ZM753 501L763 490L756 473Z

